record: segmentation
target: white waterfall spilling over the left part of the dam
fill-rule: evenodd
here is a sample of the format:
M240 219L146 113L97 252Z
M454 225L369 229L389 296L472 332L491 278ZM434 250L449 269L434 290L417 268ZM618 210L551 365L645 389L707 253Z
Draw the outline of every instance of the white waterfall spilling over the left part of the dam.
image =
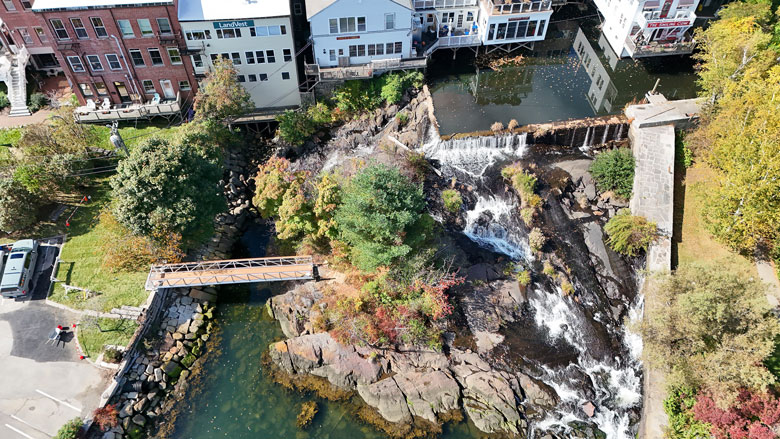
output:
M429 159L438 160L442 170L456 169L478 178L500 159L519 159L526 150L526 133L440 140L435 133L423 145Z

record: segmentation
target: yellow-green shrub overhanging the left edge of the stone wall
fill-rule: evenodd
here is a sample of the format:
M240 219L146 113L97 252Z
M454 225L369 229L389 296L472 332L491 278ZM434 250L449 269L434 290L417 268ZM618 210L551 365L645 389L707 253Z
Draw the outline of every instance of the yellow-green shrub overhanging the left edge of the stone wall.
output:
M626 256L635 256L640 251L647 250L658 236L658 227L654 222L649 222L641 216L633 216L628 209L622 209L610 218L604 230L609 236L607 244L612 250Z

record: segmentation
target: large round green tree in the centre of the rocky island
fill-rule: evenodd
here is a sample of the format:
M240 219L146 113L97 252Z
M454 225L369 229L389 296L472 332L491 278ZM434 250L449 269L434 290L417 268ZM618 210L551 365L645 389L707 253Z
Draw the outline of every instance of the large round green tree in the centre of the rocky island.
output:
M422 187L398 169L371 165L352 177L336 211L341 239L352 246L350 259L364 271L392 265L430 234Z

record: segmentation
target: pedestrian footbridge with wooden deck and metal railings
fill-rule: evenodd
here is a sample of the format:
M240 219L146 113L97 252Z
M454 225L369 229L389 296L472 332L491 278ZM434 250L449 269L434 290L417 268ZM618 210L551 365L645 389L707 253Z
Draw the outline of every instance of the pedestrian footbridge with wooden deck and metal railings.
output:
M309 280L315 276L311 256L185 262L152 265L146 278L146 289Z

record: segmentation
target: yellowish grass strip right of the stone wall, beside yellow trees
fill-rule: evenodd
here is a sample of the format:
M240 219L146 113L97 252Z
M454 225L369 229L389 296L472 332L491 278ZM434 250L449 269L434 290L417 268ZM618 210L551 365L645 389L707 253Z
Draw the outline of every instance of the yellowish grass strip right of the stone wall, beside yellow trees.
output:
M717 242L704 227L704 194L713 172L705 164L696 163L688 169L685 180L676 184L674 242L677 244L677 265L709 264L758 277L753 262Z

